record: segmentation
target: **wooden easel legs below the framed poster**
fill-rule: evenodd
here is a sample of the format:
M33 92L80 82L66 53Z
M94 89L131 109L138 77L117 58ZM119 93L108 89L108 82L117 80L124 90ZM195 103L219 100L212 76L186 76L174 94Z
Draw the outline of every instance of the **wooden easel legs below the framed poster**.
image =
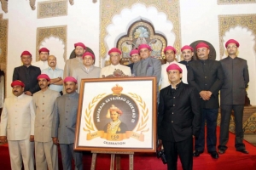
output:
M114 170L114 158L116 157L116 170L120 170L120 154L128 154L129 155L129 170L133 170L133 155L134 152L131 151L91 151L92 153L92 160L90 164L90 170L95 170L96 168L96 156L97 154L111 154L111 160L110 160L110 170Z

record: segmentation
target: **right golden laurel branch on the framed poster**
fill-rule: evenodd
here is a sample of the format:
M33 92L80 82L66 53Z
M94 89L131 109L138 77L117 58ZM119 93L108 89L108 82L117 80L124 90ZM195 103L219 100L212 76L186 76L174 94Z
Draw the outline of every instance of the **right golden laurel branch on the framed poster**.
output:
M147 130L144 130L145 127L147 126L147 122L148 122L148 108L146 106L146 103L143 101L142 97L137 95L137 94L132 94L132 93L128 93L131 95L131 97L135 100L137 100L137 102L139 103L139 105L142 107L143 109L143 116L141 119L141 122L139 122L138 126L137 126L137 132L138 131L142 131L142 132L148 132L149 128Z

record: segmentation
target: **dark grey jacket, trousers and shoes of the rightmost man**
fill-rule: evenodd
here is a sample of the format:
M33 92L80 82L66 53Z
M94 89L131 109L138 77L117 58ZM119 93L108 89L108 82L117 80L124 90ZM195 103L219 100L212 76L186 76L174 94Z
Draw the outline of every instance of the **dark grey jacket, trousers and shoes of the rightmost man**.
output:
M236 150L245 149L242 130L243 107L245 103L246 88L249 82L247 60L230 58L220 60L224 70L224 84L220 89L221 124L219 136L219 149L226 150L229 140L229 127L231 111L234 111L236 122Z

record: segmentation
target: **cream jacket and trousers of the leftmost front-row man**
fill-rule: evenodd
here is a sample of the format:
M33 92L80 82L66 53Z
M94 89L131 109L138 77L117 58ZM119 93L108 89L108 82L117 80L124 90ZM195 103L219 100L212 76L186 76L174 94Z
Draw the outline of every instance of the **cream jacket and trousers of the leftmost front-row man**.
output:
M0 136L9 140L12 169L34 169L31 156L30 136L34 135L35 111L32 96L21 94L6 98L1 116ZM22 157L22 158L21 158Z

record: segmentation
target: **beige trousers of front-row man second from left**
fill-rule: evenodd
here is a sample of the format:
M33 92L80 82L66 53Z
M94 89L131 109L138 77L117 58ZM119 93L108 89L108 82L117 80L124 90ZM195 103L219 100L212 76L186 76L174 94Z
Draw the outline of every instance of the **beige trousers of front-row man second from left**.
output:
M35 156L37 170L58 170L58 149L52 141L35 141ZM47 168L48 167L48 168Z

